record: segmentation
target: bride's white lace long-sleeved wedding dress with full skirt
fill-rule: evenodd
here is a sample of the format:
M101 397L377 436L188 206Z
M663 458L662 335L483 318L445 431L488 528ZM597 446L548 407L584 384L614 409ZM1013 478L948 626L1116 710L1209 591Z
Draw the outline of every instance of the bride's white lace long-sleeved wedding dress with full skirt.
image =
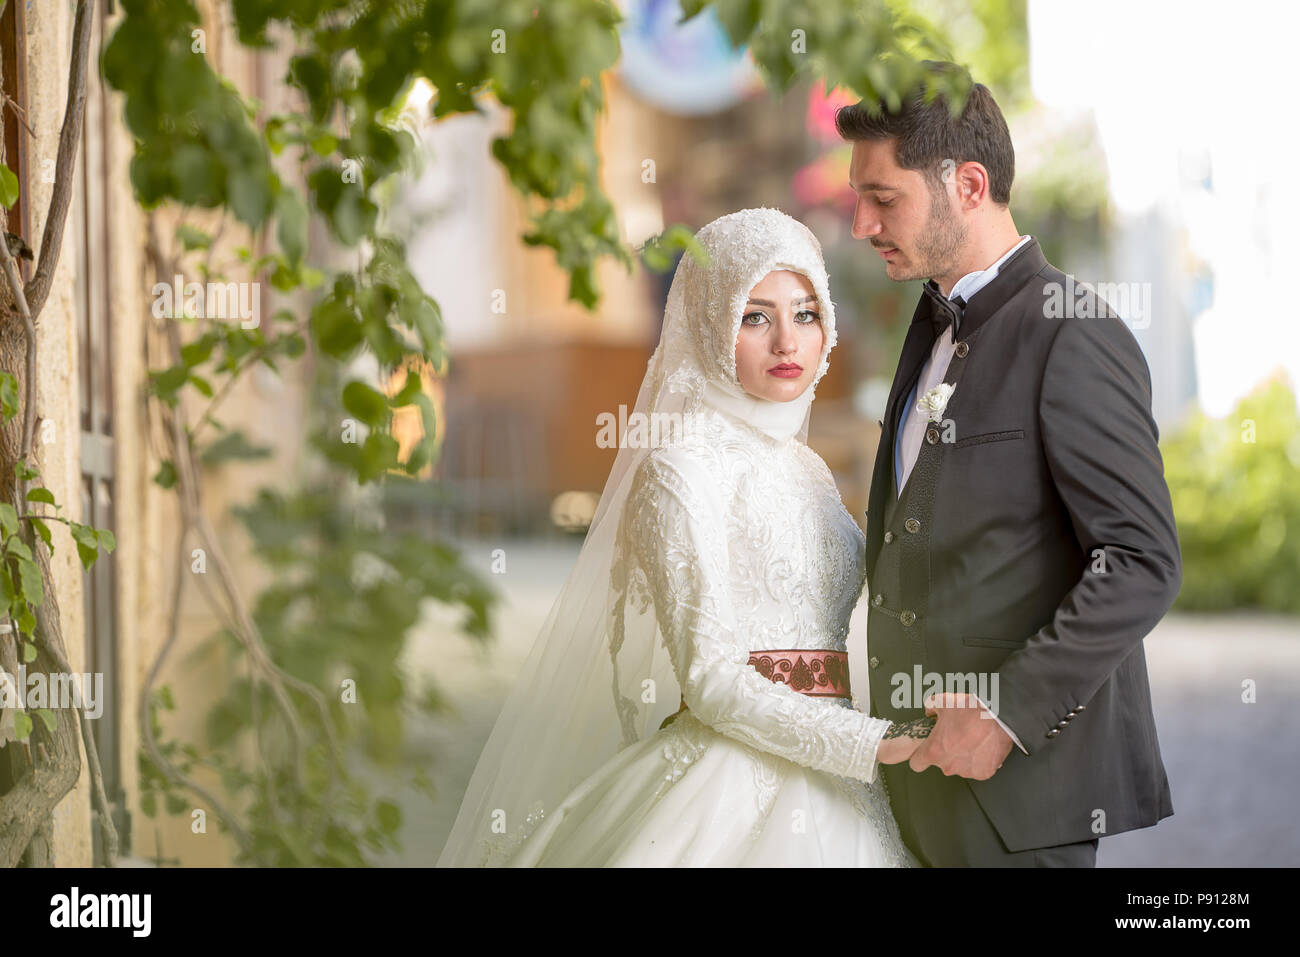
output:
M682 443L641 463L619 536L690 707L529 822L503 862L916 866L876 776L888 722L749 664L845 650L863 537L826 463L706 404Z

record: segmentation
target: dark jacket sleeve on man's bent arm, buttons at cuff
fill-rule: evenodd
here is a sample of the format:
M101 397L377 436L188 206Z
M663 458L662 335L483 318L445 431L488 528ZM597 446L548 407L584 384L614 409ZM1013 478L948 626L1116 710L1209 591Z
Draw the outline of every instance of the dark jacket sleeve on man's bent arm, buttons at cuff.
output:
M998 670L998 716L1030 754L1156 627L1182 584L1174 508L1150 415L1150 373L1128 328L1098 302L1067 319L1043 376L1039 423L1084 559L1049 624Z

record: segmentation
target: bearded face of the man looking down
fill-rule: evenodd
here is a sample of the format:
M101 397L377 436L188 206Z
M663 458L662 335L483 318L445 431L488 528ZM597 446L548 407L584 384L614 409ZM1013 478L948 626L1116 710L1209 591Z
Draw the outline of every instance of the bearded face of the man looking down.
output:
M867 239L897 282L953 270L966 242L952 177L931 186L924 174L898 165L894 139L853 143L849 185L858 195L853 238Z

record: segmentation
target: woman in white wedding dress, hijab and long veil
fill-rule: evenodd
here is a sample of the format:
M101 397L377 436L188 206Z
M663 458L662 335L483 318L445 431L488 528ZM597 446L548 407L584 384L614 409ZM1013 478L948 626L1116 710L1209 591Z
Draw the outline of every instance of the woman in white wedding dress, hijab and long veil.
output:
M577 564L439 866L918 863L876 765L933 719L853 707L863 536L803 442L836 341L822 247L766 208L696 239L708 263L677 267Z

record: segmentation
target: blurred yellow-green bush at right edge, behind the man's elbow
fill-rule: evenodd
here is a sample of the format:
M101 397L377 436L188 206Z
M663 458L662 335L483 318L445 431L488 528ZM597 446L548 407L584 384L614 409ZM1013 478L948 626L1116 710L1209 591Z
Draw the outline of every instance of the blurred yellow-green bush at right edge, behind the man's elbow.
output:
M1183 550L1176 607L1300 614L1300 417L1271 382L1161 443Z

